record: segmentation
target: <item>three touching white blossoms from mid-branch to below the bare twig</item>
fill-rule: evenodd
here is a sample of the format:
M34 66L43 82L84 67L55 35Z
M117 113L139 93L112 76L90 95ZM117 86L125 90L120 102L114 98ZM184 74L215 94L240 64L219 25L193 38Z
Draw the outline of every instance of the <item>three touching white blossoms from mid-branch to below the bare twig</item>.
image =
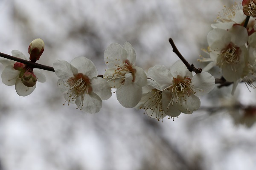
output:
M135 65L136 53L128 42L111 44L104 60L108 69L103 78L116 88L117 100L125 108L145 109L148 116L163 119L181 112L191 114L200 107L198 96L215 87L215 78L207 72L192 76L182 61L170 70L163 65L149 68L148 74Z

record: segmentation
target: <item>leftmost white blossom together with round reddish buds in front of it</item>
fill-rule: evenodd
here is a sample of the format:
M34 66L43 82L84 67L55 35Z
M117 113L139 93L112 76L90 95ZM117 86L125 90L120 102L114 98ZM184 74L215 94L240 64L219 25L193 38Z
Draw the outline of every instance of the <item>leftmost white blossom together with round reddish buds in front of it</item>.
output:
M13 50L12 56L28 60L18 50ZM20 96L31 94L35 90L36 81L46 81L44 74L37 68L29 68L23 63L5 58L0 58L0 62L5 66L1 76L2 82L9 86L15 85L16 92Z

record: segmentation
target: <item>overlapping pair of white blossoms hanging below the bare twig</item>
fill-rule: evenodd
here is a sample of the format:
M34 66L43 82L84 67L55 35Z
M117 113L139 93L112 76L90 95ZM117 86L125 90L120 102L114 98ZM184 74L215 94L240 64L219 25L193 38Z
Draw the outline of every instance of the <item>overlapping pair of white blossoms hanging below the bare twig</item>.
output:
M170 70L164 65L148 69L148 83L143 97L136 106L145 109L148 116L155 119L191 114L200 107L198 96L209 93L215 87L215 78L202 72L192 75L181 60L175 62Z

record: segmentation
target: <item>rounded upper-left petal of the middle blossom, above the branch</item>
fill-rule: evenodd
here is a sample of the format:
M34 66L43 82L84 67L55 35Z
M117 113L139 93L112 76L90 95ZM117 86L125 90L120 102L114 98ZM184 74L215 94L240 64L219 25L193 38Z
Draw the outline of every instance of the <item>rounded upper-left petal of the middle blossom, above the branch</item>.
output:
M109 45L104 53L104 61L108 68L117 68L116 65L125 62L127 51L120 44Z

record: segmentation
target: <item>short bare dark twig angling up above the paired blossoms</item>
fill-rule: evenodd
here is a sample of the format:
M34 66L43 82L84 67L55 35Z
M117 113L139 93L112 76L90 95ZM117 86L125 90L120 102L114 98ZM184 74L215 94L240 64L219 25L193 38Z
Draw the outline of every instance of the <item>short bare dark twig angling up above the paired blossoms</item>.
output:
M201 73L202 72L202 68L195 68L194 64L189 64L189 62L187 62L187 60L180 54L180 51L177 49L175 43L173 42L172 38L169 38L169 42L172 45L173 48L173 52L181 59L181 61L186 65L186 67L188 68L188 70L190 72L194 71L196 74Z

